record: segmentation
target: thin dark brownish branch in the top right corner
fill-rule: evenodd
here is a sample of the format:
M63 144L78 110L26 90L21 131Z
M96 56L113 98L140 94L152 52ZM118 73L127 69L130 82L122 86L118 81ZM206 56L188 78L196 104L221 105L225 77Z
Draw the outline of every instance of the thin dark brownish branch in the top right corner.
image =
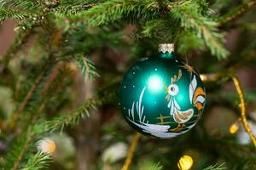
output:
M227 22L232 20L236 20L236 18L240 17L242 14L245 14L249 9L253 8L256 4L256 0L247 0L245 3L242 3L238 7L232 9L228 14L224 14L217 19L218 26L222 26Z

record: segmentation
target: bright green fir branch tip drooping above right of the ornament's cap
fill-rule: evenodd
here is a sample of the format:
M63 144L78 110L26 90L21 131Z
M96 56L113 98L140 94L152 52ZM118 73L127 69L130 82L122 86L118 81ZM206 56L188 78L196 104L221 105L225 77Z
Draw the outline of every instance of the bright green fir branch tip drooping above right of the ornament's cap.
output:
M197 37L202 37L213 55L225 59L229 52L223 47L223 35L218 33L217 23L200 14L199 6L192 1L185 1L171 10L174 20L180 21L185 30L193 30Z

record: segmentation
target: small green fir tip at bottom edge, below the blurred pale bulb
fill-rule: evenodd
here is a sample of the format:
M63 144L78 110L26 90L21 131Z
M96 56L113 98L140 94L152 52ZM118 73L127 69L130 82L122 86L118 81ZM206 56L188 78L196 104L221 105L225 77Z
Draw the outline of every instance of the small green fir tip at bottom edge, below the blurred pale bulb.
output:
M45 154L42 151L38 151L36 155L32 156L21 170L39 170L46 168L51 162L49 154Z

